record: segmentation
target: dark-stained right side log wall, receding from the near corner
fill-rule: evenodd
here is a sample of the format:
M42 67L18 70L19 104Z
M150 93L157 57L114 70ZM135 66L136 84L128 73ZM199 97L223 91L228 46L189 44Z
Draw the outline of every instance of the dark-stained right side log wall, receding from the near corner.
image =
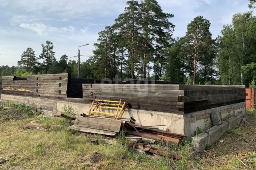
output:
M184 90L184 113L245 102L245 86L179 85Z

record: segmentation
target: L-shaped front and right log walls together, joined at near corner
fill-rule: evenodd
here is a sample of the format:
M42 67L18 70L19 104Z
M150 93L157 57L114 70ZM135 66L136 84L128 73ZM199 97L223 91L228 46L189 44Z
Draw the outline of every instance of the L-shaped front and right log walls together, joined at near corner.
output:
M183 84L83 84L83 98L128 102L128 107L192 113L245 101L245 86Z

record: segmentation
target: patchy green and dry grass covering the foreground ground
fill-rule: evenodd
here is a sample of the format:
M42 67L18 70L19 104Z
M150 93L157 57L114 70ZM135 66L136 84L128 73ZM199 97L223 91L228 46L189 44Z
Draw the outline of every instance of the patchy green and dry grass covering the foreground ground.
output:
M194 152L191 139L184 145L166 144L182 158L172 160L130 152L124 132L116 137L116 145L105 145L100 135L71 130L68 120L44 117L40 110L20 105L7 104L4 108L19 111L22 116L0 119L0 157L7 160L0 169L256 169L253 111L240 127L223 136L225 143L216 143L202 154ZM0 109L0 116L6 115L6 110ZM98 138L99 145L91 143L91 138Z

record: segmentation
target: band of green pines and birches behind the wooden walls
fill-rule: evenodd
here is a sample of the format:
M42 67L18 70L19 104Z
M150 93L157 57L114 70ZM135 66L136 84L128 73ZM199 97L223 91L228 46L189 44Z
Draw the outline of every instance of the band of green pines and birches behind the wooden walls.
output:
M250 0L249 8L255 8ZM174 38L173 14L156 0L130 0L111 26L98 33L94 56L81 63L81 78L152 79L187 84L253 84L256 78L256 17L237 13L212 38L210 21L197 16L184 37ZM18 69L2 66L1 76L69 72L78 77L78 62L62 55L56 61L53 43L42 44L37 57L27 48ZM22 67L22 68L21 68Z

